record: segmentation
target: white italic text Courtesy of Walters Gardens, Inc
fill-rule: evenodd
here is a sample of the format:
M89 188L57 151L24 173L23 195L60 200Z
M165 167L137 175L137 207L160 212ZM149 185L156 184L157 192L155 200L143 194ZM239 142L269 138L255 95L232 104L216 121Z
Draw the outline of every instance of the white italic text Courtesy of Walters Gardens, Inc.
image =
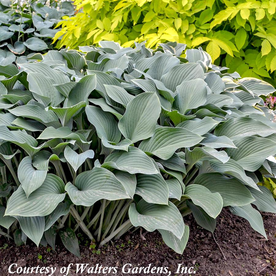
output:
M195 274L196 271L194 267L186 267L183 263L177 264L175 269L169 267L156 267L152 263L147 266L134 266L131 263L126 263L122 267L104 267L97 263L96 265L90 265L88 263L70 263L67 267L21 267L17 265L17 263L12 263L8 268L8 273L10 274L36 274L36 275L78 275L78 274L137 274L137 275L145 275L145 274L164 274L167 276L175 275L175 274ZM57 274L60 273L60 274Z

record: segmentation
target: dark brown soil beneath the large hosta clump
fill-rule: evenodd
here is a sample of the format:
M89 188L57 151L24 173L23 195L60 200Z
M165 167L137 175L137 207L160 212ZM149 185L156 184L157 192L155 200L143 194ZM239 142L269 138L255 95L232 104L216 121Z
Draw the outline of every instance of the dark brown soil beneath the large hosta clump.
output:
M168 267L171 275L176 274L177 266L183 263L184 267L194 267L195 274L210 276L240 276L240 275L276 275L276 220L275 215L263 213L264 226L267 232L266 241L259 233L251 229L249 223L240 217L233 216L227 209L223 210L217 218L217 228L214 236L225 254L223 259L221 251L214 242L213 236L199 227L190 215L185 217L185 223L190 226L190 237L183 255L179 255L169 249L162 241L159 233L146 233L142 236L139 231L134 234L127 233L114 244L89 250L89 244L85 246L86 238L81 242L81 259L78 259L63 247L56 247L56 252L50 248L27 243L26 246L17 247L13 242L0 239L0 275L11 276L8 267L17 263L22 267L56 267L55 276L60 274L61 267L68 267L73 263L68 275L76 274L76 263L88 263L95 266L97 263L103 267L118 267L117 275L123 274L122 267L131 263L133 267L148 266ZM145 238L145 240L144 240ZM5 246L7 244L7 246ZM50 251L50 252L49 252ZM100 273L102 275L102 273ZM45 275L45 274L21 274L21 275ZM89 274L91 275L91 274ZM95 275L95 274L94 274ZM105 274L115 275L115 274ZM136 274L136 275L161 275L161 274ZM168 274L162 274L168 275Z

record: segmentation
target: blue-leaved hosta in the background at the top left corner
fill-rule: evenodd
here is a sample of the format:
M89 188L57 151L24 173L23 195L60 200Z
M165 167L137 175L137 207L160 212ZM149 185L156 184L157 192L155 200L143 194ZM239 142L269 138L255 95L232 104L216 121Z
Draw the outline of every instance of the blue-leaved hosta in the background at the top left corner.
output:
M0 66L28 59L41 60L41 54L52 49L54 29L64 15L74 14L66 1L0 1Z

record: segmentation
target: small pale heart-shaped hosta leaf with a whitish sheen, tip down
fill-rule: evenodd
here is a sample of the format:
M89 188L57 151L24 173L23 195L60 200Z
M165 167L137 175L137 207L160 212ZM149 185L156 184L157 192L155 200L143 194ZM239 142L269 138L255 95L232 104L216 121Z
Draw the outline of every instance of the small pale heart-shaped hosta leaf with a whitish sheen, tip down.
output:
M93 158L94 152L92 149L89 149L83 153L76 153L69 146L66 146L64 149L64 157L67 162L72 166L75 172L78 171L78 168L85 162L87 158Z

